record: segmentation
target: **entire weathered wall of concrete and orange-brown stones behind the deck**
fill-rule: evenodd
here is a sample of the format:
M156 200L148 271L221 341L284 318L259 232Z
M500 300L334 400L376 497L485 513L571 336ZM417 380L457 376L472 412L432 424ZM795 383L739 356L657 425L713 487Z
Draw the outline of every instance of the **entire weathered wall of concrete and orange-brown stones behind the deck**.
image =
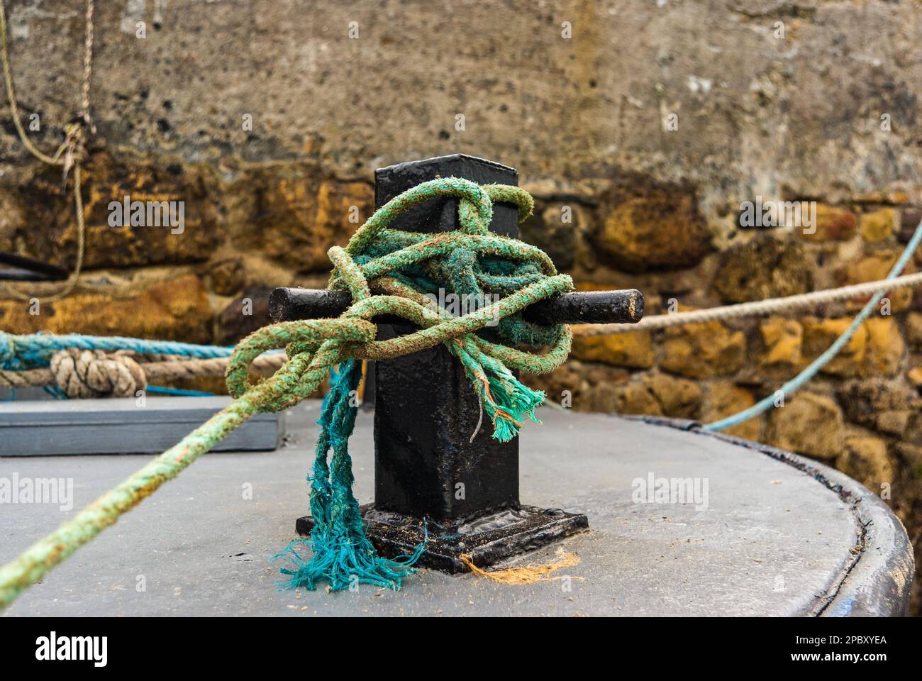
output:
M51 149L77 108L82 8L6 5L18 100ZM650 313L880 279L922 219L917 1L98 5L86 275L38 316L0 294L5 330L232 342L265 323L271 287L325 281L375 167L452 152L517 167L538 204L523 237L581 288L641 289ZM73 266L59 172L0 124L0 248ZM125 195L184 201L183 233L109 226ZM741 225L757 197L816 201L816 233ZM578 409L709 421L794 376L862 303L585 339L531 380ZM890 303L733 432L889 485L918 546L922 293Z

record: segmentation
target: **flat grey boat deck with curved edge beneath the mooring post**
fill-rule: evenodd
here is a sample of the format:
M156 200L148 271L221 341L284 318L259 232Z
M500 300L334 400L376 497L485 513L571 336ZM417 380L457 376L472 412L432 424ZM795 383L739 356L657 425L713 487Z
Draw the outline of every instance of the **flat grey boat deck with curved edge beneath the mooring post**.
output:
M591 529L514 564L573 551L579 565L557 573L573 579L511 586L423 569L396 592L278 591L269 557L307 511L318 409L289 412L274 452L202 457L4 615L890 615L908 599L899 520L841 473L666 424L550 409L524 428L522 501L582 511ZM360 413L350 444L356 496L372 501L372 414ZM0 459L0 477L73 478L76 497L70 511L0 509L0 561L148 458ZM707 508L633 503L632 481L650 473L706 479Z

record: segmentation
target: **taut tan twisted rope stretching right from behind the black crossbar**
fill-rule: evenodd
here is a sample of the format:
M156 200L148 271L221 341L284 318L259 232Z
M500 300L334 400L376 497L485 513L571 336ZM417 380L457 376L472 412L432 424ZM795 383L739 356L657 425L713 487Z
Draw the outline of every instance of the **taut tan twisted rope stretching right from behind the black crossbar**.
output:
M890 291L920 285L922 285L922 272L916 272L916 274L904 274L902 277L890 280L867 281L826 291L789 295L785 298L769 298L768 300L760 300L754 303L709 307L705 310L674 312L668 315L651 315L650 317L644 317L637 324L578 325L573 327L573 336L603 336L609 333L627 333L629 331L655 331L657 329L677 327L682 324L737 319L739 317L762 317L794 310L810 309L815 305L848 300L858 295L868 295L878 291Z

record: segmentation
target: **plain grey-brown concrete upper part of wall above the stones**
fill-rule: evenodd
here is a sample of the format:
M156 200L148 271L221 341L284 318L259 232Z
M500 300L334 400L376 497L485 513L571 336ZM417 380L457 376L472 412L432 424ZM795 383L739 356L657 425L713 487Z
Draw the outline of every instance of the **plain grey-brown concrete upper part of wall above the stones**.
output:
M101 137L183 161L306 158L368 177L461 151L558 187L629 171L688 182L708 215L752 193L919 181L918 2L98 5ZM53 136L77 107L81 3L9 6L21 99Z

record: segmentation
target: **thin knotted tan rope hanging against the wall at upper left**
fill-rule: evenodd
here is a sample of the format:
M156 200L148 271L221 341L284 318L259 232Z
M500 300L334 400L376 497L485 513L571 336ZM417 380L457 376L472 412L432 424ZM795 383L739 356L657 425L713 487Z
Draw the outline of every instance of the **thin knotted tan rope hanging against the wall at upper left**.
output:
M77 217L77 263L74 271L64 283L64 287L53 295L43 296L46 301L55 301L64 298L71 293L77 286L77 280L80 277L80 270L83 269L84 242L86 238L86 226L84 224L83 211L83 169L82 163L86 156L86 132L96 133L96 127L89 116L89 80L92 77L93 66L93 0L87 0L86 14L86 37L83 45L83 81L80 87L80 114L77 118L65 125L65 140L49 156L41 149L32 144L29 136L26 134L22 121L19 119L19 107L16 99L16 86L13 81L13 70L9 63L9 48L7 45L6 35L6 5L0 0L0 60L3 62L3 76L6 83L6 98L9 101L10 116L13 118L13 125L23 146L39 161L48 165L61 166L64 175L64 181L67 180L67 174L71 169L74 171L74 209ZM3 289L9 295L18 300L28 301L33 297L28 293L22 293L18 289L3 282Z

